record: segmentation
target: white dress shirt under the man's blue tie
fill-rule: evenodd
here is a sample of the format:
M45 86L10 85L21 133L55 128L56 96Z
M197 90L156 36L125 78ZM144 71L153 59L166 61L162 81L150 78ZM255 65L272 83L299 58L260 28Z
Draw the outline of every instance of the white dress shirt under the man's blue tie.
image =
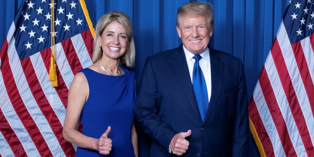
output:
M183 50L186 58L186 63L188 67L188 71L190 73L191 82L193 83L193 67L195 59L193 58L194 54L189 52L183 45ZM206 81L208 99L210 100L211 95L211 74L210 74L210 58L209 58L209 48L206 48L204 52L200 54L202 59L199 60L199 65L204 74L204 78Z

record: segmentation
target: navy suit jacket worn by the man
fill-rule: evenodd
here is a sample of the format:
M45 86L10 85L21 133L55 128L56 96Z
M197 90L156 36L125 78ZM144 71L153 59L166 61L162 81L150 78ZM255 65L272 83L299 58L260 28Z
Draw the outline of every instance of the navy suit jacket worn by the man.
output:
M149 56L137 101L136 120L151 139L151 157L172 157L172 137L191 130L183 157L246 157L248 105L240 59L209 47L211 97L202 121L183 46ZM141 148L139 148L140 150Z

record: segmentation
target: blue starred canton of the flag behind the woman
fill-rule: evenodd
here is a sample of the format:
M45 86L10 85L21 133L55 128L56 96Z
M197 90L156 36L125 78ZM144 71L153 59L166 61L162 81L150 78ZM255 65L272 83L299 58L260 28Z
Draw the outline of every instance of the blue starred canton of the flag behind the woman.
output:
M56 0L55 0L56 1ZM21 16L14 19L15 47L20 60L51 47L52 4L46 0L26 0ZM59 43L89 29L77 0L54 3L54 36ZM23 20L21 20L23 18Z

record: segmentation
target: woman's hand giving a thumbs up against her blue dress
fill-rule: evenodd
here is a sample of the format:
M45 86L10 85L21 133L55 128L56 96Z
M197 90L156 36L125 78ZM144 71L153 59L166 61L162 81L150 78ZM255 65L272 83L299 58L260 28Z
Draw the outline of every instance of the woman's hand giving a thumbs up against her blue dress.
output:
M110 133L110 131L111 131L111 127L109 126L98 140L98 152L100 154L108 155L111 151L112 140L108 138L108 134Z

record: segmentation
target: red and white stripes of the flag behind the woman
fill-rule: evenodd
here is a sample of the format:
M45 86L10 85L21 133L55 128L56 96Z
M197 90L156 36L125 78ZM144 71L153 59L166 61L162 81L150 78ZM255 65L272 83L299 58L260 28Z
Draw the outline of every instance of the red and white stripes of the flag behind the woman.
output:
M55 45L58 87L49 78L51 49L19 59L14 23L0 52L0 156L71 157L76 146L62 136L68 89L92 64L93 36L86 30Z

